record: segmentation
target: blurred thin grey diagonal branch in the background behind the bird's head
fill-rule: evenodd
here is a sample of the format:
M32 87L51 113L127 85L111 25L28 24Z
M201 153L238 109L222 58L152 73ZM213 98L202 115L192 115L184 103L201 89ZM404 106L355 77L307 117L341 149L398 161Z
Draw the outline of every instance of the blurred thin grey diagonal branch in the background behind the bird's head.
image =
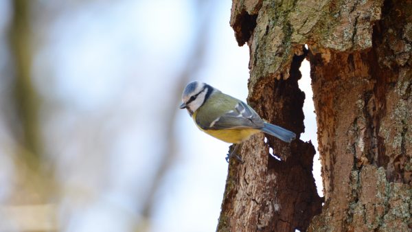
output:
M205 60L205 50L207 49L207 42L209 38L210 19L213 18L214 1L196 0L194 3L194 9L196 11L196 29L194 32L194 48L187 56L183 69L177 73L174 80L176 82L172 88L168 89L168 92L172 93L172 98L176 100L181 99L181 93L183 87L190 82L191 78L196 76L196 72L202 67ZM143 227L150 227L150 218L152 216L153 207L156 204L156 196L159 191L159 187L163 183L164 176L168 174L170 167L176 161L176 138L174 136L176 129L176 116L179 109L179 105L165 104L163 114L165 117L165 146L164 151L161 152L160 163L156 168L155 175L152 178L150 186L148 187L147 198L144 200L144 207L142 208L142 220ZM179 128L178 128L179 129Z

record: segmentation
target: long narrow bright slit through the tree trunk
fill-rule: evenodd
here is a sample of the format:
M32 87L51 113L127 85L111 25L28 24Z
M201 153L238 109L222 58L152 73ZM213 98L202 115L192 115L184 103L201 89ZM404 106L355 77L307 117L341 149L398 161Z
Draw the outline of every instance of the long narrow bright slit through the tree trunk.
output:
M305 45L305 48L308 49L308 45ZM301 134L300 139L302 141L312 141L316 154L313 157L313 177L317 186L317 192L319 196L323 196L323 183L321 177L321 162L319 161L319 151L318 151L318 142L317 142L317 121L316 114L314 113L314 104L313 104L313 92L310 79L310 64L308 60L304 60L301 63L299 68L301 71L301 79L298 81L299 89L305 92L305 102L304 102L304 125L305 132Z

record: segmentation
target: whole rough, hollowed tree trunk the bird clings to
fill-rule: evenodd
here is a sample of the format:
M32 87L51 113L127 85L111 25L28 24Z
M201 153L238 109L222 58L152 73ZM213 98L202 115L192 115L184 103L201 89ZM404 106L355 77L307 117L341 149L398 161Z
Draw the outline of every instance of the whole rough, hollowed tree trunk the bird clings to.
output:
M233 0L231 26L250 47L249 104L297 134L310 61L325 205L312 144L260 134L229 165L218 231L411 231L412 1Z

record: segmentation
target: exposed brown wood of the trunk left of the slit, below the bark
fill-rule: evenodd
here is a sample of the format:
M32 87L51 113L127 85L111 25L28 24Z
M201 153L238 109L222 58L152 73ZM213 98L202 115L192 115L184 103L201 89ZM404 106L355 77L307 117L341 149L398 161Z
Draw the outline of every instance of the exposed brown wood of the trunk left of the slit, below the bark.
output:
M294 56L289 78L265 84L260 98L250 102L264 119L293 130L298 138L289 144L260 134L243 144L244 164L229 165L218 231L305 231L312 217L321 213L322 198L312 176L316 152L312 143L299 140L305 95L297 81L305 56L306 51ZM272 157L269 148L282 161Z

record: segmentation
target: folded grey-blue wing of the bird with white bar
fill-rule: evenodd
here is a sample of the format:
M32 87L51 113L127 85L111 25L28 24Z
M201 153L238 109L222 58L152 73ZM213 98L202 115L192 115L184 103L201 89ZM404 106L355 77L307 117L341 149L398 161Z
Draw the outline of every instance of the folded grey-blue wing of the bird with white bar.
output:
M233 110L216 117L204 130L223 130L236 128L262 128L263 120L253 108L242 101L238 101Z

